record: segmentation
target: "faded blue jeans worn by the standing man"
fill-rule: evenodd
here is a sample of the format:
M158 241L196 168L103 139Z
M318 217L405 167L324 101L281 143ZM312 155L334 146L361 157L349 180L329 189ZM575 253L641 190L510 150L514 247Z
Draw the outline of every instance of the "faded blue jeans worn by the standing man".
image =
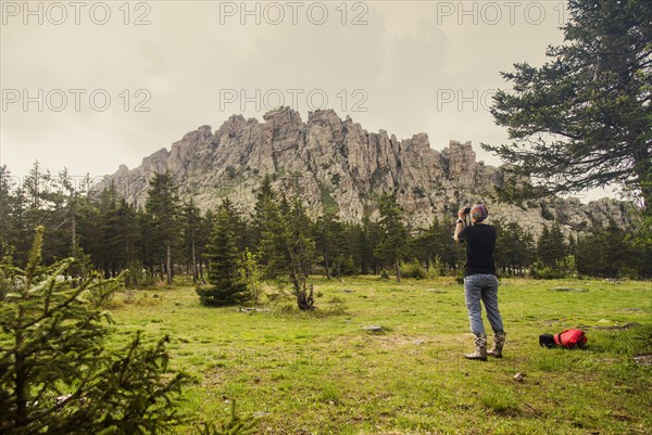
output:
M502 318L498 309L498 278L496 276L471 274L464 278L464 298L468 310L471 332L474 334L485 333L480 300L485 304L487 319L489 319L493 332L504 332Z

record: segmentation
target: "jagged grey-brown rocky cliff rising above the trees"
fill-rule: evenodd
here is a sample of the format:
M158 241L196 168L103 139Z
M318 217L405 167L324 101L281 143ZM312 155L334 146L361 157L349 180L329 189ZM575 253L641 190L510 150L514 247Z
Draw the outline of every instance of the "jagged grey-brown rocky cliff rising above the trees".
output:
M517 220L535 233L551 219L579 231L606 225L610 217L628 223L623 206L611 200L589 205L555 200L525 209L492 204L490 192L502 183L503 174L476 162L469 142L451 141L438 152L425 133L399 141L385 130L368 132L350 117L342 120L331 110L311 112L306 123L288 107L263 119L234 115L214 132L210 126L199 127L135 169L121 165L97 188L113 182L129 203L145 206L150 178L168 170L180 196L193 197L201 208L229 197L250 212L255 189L272 174L274 185L298 193L313 216L334 210L346 221L376 217L377 197L398 192L414 227L428 226L435 215L451 218L462 204L478 201L488 204L490 216Z

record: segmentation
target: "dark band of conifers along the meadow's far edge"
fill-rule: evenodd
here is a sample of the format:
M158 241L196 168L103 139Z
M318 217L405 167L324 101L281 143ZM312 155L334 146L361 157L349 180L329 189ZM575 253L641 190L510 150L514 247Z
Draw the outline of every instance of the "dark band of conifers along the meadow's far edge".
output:
M152 178L146 206L140 209L127 204L113 185L89 194L90 180L73 180L66 170L53 176L35 164L21 185L12 188L10 179L8 169L1 167L2 257L24 265L34 229L43 226L45 263L72 256L77 258L77 273L96 269L106 278L128 269L129 285L171 283L176 273L190 274L198 283L208 281L211 258L222 254L206 250L221 236L215 232L224 232L225 227L233 234L231 251L246 257L243 264L254 263L271 278L274 268L290 276L303 268L306 273L328 278L425 278L459 274L465 260L463 246L452 240L454 217L435 217L428 228L408 228L396 197L389 194L379 199L377 221L365 218L350 223L335 213L309 219L300 201L274 192L269 179L256 192L251 214L238 210L229 201L201 213L192 201L179 200L168 174ZM285 227L278 227L283 222ZM501 274L652 276L650 247L637 246L615 223L580 239L565 236L556 223L544 227L539 238L516 222L492 223L498 229L496 260ZM300 253L292 251L297 246L301 246ZM280 260L284 256L288 261ZM299 257L303 263L292 264Z

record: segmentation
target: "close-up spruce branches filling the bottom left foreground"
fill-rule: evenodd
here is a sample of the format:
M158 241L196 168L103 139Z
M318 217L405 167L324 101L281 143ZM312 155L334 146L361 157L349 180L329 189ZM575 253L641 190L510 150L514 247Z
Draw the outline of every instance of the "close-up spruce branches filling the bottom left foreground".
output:
M110 297L120 279L59 282L74 259L41 267L42 238L39 227L25 269L2 266L11 290L0 305L0 433L168 432L186 378L166 373L167 337L143 348L137 335L124 354L106 351L106 315L84 297Z

